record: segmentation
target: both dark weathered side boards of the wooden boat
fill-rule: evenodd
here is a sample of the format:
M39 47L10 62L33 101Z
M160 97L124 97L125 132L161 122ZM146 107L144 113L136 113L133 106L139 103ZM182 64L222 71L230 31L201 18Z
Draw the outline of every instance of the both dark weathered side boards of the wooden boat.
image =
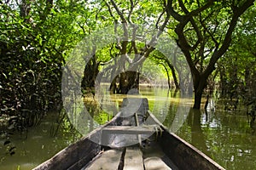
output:
M168 128L165 127L152 113L151 111L148 112L148 118L152 118L155 124L160 126L162 129L162 136L158 139L158 143L160 144L160 147L165 152L166 156L168 156L179 169L186 169L186 166L192 166L190 169L194 169L193 166L201 166L202 167L209 167L207 169L219 169L224 170L224 167L221 167L216 161L213 161L212 158L205 155L201 150L198 150L193 146L192 144L189 144L184 139L181 139L178 137L175 133L169 132ZM63 150L59 151L55 154L55 156L52 156L49 158L49 160L44 161L38 167L33 168L33 170L41 170L41 169L78 169L86 166L88 163L90 163L91 160L96 158L96 156L101 152L102 147L106 147L102 145L100 142L95 143L93 140L91 140L92 137L96 137L101 140L102 135L102 128L107 127L109 125L117 125L119 122L123 120L123 117L121 116L122 112L119 111L115 116L113 116L113 119L106 124L102 125L101 127L97 127L90 133L88 133L83 138L79 139L77 142L70 144ZM85 146L85 149L80 148L81 145L89 144L89 146ZM92 145L91 145L92 144ZM171 144L171 145L170 145ZM173 144L173 145L172 145ZM82 145L82 146L83 146ZM95 148L93 148L95 147ZM182 150L179 150L182 149ZM72 153L70 150L73 150ZM69 154L72 154L70 156ZM81 154L82 153L82 154ZM182 160L184 153L188 153L187 161ZM73 161L70 161L70 157L73 157L75 155L75 158L73 158ZM78 156L79 155L79 156ZM191 156L191 157L189 157ZM64 158L64 159L62 159ZM78 158L78 159L76 159ZM198 159L198 160L197 160ZM65 160L69 162L65 162ZM201 162L197 162L201 161ZM66 163L66 167L63 167L61 163ZM188 165L180 165L180 164L188 164ZM196 165L193 165L196 164ZM61 167L62 166L62 167ZM198 169L198 168L197 168Z

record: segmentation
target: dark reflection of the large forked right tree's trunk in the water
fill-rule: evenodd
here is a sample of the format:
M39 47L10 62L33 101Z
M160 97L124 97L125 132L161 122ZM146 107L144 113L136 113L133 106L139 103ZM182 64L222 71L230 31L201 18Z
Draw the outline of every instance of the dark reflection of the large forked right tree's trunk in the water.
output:
M196 148L207 154L207 144L201 129L201 111L190 109L188 116L188 125L191 127L191 143ZM207 154L208 155L208 154Z

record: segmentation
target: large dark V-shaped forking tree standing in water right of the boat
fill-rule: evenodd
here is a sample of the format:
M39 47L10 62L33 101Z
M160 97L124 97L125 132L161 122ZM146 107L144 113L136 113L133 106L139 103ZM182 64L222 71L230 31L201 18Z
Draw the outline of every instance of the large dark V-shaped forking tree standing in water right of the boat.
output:
M183 51L193 77L195 103L200 109L207 78L215 64L230 47L236 23L254 0L244 1L182 1L168 0L166 12L177 34L177 44Z

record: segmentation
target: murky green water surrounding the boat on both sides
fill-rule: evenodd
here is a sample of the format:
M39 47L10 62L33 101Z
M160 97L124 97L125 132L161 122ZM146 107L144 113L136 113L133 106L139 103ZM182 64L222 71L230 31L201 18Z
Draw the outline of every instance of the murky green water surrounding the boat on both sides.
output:
M148 98L149 109L170 131L195 145L221 166L227 169L255 169L256 132L247 123L244 110L223 111L223 105L217 104L216 111L206 114L205 111L190 109L193 101L181 99L180 94L175 96L172 93L167 98L166 89L157 88L153 91L142 88L141 94ZM102 107L105 111L94 112L94 123L88 119L86 133L96 128L96 124L108 121L111 117L108 116L109 108L117 111L124 97L127 96L114 94L111 96L111 105ZM113 109L113 105L117 108ZM92 108L90 110L95 111ZM58 123L50 115L40 126L28 129L27 139L25 133L15 133L10 136L11 143L8 146L3 145L4 140L0 139L0 169L32 169L79 139L79 133L71 131L73 128L67 121L61 124L57 135L52 137ZM12 146L16 147L15 154L10 156L8 150Z

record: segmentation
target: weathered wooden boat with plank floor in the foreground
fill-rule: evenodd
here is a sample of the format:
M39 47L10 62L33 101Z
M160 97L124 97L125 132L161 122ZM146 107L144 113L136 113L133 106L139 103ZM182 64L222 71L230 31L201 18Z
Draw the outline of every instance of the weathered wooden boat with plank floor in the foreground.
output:
M147 104L143 99L143 105ZM144 112L143 108L140 108L138 111ZM145 113L143 113L145 114ZM120 112L117 116L113 118L111 122L108 122L105 126L99 127L90 134L88 134L83 139L80 139L78 142L71 144L64 150L61 150L58 154L53 156L48 161L45 161L38 167L35 167L34 170L62 170L62 169L81 169L81 168L90 168L90 169L118 169L120 167L125 167L125 169L139 169L145 167L145 169L209 169L209 170L224 170L223 167L219 166L218 163L212 161L211 158L203 154L200 150L197 150L191 144L188 144L183 139L177 137L173 133L164 127L155 117L148 111L148 127L138 126L138 123L135 119L134 123L128 123L129 126L120 126L125 125L124 121L130 120L129 117L122 117ZM141 117L142 118L142 117ZM138 118L139 119L139 118ZM137 119L137 120L138 120ZM117 127L119 125L119 127ZM152 125L152 126L151 126ZM143 156L140 150L131 150L128 148L125 155L121 154L122 151L113 151L107 150L101 154L101 149L103 145L101 144L102 138L107 133L109 141L106 141L106 144L112 142L119 142L120 144L127 141L137 142L138 134L148 135L148 137L155 132L155 125L160 127L162 130L159 133L156 144L160 146L160 151L156 155ZM104 134L105 133L105 134ZM111 133L117 133L114 136ZM103 136L102 136L103 135ZM106 136L106 135L105 135ZM119 140L112 140L113 137ZM119 137L119 138L116 138ZM123 139L120 137L124 137ZM135 137L130 138L130 137ZM92 142L92 141L97 141ZM123 144L123 146L124 146ZM131 145L131 143L129 142ZM138 143L135 143L138 144ZM116 144L115 144L116 145ZM122 144L121 144L122 145ZM105 148L108 148L105 147ZM127 146L127 145L125 145ZM155 150L159 148L154 147ZM147 148L145 149L147 150ZM144 151L143 151L144 152ZM102 157L100 159L100 157ZM142 159L144 160L142 161ZM109 161L109 159L113 159ZM92 161L93 160L93 161ZM93 163L94 162L94 163ZM105 163L104 163L105 162ZM107 164L111 164L110 168L106 167ZM113 167L114 164L114 167ZM94 166L98 167L94 167ZM100 166L102 165L102 166ZM121 165L121 166L120 166Z

